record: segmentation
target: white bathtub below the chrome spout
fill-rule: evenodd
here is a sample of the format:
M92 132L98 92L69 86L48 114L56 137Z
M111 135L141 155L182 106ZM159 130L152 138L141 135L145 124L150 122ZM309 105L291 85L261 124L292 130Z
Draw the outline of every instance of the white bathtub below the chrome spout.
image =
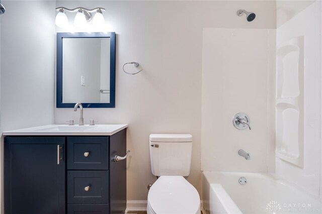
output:
M205 214L322 213L318 198L273 173L203 172L202 199Z

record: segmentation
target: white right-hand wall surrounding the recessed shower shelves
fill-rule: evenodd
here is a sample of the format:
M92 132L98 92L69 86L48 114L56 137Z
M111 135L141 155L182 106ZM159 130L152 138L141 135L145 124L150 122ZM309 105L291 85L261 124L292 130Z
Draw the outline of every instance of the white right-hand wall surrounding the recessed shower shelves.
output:
M319 195L320 143L320 2L316 1L277 29L276 45L304 36L304 167L276 158L276 173ZM279 19L279 16L277 17ZM309 24L308 24L309 23ZM301 91L302 93L303 91Z

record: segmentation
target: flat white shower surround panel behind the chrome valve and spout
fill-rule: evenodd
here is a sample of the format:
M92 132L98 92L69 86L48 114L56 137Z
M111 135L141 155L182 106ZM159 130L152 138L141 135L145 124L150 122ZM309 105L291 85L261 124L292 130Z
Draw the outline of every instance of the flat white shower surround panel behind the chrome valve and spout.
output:
M275 30L204 29L202 58L201 170L267 172L268 67ZM252 130L232 124L250 117ZM238 155L243 149L251 160Z

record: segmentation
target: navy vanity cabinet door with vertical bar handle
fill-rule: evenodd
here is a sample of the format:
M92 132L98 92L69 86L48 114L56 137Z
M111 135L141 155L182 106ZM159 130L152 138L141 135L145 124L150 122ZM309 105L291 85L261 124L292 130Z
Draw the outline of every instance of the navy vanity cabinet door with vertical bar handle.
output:
M65 213L64 137L5 137L5 213Z

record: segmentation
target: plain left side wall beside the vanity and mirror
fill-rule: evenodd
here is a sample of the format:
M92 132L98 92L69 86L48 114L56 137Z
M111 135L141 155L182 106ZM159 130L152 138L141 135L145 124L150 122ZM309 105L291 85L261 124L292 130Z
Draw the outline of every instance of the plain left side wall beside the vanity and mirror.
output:
M2 3L7 11L0 18L0 131L52 124L55 4L52 1ZM3 145L2 138L2 160ZM1 177L3 186L3 165ZM1 213L4 213L1 192Z

